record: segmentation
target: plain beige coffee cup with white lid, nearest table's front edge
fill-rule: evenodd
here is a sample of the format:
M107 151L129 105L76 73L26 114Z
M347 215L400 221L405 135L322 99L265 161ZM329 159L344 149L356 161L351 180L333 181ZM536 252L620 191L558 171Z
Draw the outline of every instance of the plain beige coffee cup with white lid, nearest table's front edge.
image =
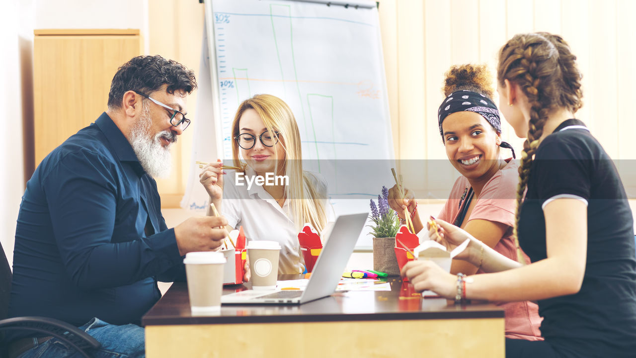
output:
M188 278L188 296L193 315L218 313L223 292L223 252L188 252L183 263Z

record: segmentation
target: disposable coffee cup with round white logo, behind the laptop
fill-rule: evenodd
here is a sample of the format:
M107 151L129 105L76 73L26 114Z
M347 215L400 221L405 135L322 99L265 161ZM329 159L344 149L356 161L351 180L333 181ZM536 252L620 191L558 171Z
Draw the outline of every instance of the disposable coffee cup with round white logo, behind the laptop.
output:
M254 240L247 243L252 290L274 290L278 278L280 244L276 241Z

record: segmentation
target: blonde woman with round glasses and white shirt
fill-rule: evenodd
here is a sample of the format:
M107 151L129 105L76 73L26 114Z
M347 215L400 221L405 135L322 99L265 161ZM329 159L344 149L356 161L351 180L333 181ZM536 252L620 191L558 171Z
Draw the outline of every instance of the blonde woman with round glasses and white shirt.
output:
M298 232L305 223L321 232L331 210L324 179L303 171L298 125L282 99L257 94L240 104L232 159L240 169L224 171L220 160L203 168L210 203L230 228L243 226L247 240L280 243L280 274L302 273Z

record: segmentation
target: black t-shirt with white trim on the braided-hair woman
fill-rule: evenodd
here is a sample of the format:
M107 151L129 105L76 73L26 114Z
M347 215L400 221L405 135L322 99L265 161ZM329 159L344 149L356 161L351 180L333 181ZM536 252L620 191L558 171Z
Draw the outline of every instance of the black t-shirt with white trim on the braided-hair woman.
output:
M577 294L539 301L541 333L565 357L636 357L632 210L614 163L576 119L547 136L532 162L519 222L532 262L546 258L542 205L561 195L588 202L585 275Z

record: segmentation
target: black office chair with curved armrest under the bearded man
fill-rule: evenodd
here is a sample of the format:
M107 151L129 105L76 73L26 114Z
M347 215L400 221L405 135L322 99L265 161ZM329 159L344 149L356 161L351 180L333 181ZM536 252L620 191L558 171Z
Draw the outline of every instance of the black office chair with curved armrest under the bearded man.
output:
M79 354L90 358L90 349L101 347L101 343L88 333L71 326L61 320L49 317L14 317L7 319L9 310L9 298L11 293L11 268L0 243L2 255L0 257L0 341L4 338L3 331L32 331L45 333L48 336L59 338L75 348ZM7 355L6 345L0 345L0 358ZM3 348L4 347L4 348Z

